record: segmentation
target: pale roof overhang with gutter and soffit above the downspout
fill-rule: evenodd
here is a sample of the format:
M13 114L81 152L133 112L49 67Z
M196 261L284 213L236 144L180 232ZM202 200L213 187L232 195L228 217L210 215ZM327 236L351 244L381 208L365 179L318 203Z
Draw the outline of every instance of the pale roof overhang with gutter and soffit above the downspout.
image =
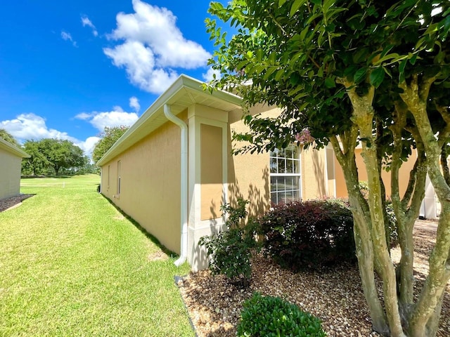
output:
M155 129L165 124L164 105L170 105L172 114L177 115L193 104L206 105L215 109L231 111L240 107L242 98L226 91L204 91L202 81L181 74L172 86L148 107L146 112L120 137L117 142L97 161L102 166L145 138Z

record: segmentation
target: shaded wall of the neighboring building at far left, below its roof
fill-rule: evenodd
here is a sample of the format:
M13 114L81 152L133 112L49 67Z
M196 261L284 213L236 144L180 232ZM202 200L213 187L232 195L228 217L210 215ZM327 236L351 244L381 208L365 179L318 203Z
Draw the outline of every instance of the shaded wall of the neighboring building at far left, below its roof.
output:
M22 158L0 148L0 199L20 194Z

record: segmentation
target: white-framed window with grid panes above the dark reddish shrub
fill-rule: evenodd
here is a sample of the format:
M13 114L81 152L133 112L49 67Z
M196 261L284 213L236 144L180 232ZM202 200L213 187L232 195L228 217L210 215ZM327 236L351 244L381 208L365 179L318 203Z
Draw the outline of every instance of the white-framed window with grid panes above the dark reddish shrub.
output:
M290 145L270 152L270 197L274 204L287 203L302 197L300 180L300 149Z

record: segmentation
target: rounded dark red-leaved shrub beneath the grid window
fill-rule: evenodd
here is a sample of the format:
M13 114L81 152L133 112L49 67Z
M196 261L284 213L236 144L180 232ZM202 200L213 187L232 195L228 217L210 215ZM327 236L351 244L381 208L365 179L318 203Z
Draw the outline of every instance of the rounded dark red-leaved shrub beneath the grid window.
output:
M356 261L353 217L344 201L275 205L259 221L266 252L283 267L299 270Z

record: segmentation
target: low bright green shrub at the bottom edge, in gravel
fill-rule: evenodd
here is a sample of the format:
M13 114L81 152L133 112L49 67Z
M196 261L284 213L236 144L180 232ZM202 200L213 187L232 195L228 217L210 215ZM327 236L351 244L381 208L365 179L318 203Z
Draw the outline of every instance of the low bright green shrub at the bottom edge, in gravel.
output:
M239 337L326 336L317 317L279 297L259 293L244 302L236 334Z

